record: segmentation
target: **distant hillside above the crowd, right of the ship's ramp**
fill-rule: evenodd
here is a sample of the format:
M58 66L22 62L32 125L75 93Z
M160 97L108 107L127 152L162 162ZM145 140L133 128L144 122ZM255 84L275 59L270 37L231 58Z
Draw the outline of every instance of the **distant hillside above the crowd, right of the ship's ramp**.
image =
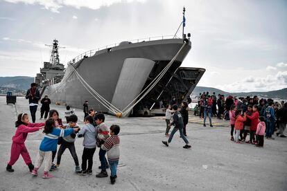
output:
M226 91L222 91L220 89L216 88L211 88L211 87L195 87L193 92L191 93L192 95L198 95L200 92L207 92L209 91L209 94L212 94L213 92L216 93L216 96L218 93L223 94L225 96L227 95L232 95L232 96L259 96L259 97L264 97L264 98L278 98L278 99L283 99L287 100L287 88L285 89L279 89L276 91L252 91L252 92L239 92L239 93L230 93Z

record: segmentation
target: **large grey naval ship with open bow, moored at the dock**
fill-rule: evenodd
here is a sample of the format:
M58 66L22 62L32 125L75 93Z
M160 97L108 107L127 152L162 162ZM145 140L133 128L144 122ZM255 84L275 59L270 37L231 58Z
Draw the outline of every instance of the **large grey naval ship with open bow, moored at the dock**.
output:
M190 34L121 42L87 51L60 64L58 40L51 60L35 82L52 102L89 108L116 116L164 113L164 105L187 100L205 69L181 67L191 50Z

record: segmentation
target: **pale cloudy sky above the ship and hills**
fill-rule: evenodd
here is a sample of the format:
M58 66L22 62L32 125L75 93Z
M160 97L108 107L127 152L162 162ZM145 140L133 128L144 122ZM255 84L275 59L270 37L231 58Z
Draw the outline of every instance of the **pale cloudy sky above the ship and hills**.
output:
M35 76L49 61L44 44L55 38L66 47L60 61L67 63L108 44L174 35L183 6L193 45L182 66L207 69L200 86L287 87L284 0L0 0L0 76Z

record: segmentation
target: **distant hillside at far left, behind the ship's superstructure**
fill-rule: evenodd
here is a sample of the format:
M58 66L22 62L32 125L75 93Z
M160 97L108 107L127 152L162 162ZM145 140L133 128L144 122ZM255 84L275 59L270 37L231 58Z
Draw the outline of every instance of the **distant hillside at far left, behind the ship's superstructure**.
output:
M28 76L0 77L0 87L8 89L26 90L34 82L34 78Z

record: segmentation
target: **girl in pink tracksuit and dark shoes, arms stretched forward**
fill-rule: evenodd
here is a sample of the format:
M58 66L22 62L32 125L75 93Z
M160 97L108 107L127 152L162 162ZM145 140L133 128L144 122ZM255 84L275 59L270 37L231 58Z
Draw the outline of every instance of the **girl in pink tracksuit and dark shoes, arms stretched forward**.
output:
M20 113L18 115L18 120L15 122L17 130L15 135L12 137L10 161L6 167L8 172L14 172L12 165L16 163L20 154L23 157L26 165L28 165L30 172L32 172L34 165L32 164L30 155L26 148L25 140L28 136L28 133L39 131L44 125L44 122L30 123L27 113Z

